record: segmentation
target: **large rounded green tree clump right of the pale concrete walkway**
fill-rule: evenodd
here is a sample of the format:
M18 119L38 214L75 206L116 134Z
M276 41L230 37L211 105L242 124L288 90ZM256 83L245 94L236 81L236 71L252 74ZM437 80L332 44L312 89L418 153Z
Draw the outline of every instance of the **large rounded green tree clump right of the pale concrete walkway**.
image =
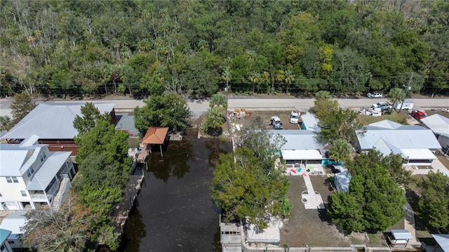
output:
M404 193L387 168L375 164L352 176L349 192L332 194L326 212L333 223L349 233L384 231L404 217Z

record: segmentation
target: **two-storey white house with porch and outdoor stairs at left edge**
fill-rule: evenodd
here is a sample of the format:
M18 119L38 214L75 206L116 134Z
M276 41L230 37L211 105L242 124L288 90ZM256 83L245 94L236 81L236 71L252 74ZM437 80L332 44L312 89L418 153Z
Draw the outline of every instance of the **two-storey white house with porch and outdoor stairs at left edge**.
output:
M0 210L58 209L76 173L71 152L50 152L32 135L0 145Z

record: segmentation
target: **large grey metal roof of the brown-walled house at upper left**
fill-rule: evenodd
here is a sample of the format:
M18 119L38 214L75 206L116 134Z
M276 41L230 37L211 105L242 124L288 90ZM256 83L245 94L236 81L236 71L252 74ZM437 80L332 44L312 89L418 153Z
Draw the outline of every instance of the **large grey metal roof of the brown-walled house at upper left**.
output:
M81 107L85 104L85 102L40 103L1 138L22 139L29 135L39 135L41 139L72 139L78 135L78 131L73 127L73 121L76 115L81 116ZM102 114L114 109L114 103L95 103L94 105Z

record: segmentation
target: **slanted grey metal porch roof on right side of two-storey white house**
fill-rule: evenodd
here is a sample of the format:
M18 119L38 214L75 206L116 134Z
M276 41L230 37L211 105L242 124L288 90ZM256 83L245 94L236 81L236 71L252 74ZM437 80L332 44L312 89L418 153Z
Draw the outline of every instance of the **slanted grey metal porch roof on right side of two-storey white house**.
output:
M42 164L32 181L27 185L27 190L45 190L71 153L51 152L50 157L47 157L45 163Z

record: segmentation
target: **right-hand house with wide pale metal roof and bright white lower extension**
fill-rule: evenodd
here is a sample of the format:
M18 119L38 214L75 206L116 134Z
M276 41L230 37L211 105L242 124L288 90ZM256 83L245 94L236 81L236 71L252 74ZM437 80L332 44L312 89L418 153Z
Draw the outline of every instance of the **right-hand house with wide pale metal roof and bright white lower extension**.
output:
M431 130L389 120L369 124L366 133L357 131L356 134L360 151L375 149L385 156L401 154L409 165L430 166L437 159L434 152L441 149Z

